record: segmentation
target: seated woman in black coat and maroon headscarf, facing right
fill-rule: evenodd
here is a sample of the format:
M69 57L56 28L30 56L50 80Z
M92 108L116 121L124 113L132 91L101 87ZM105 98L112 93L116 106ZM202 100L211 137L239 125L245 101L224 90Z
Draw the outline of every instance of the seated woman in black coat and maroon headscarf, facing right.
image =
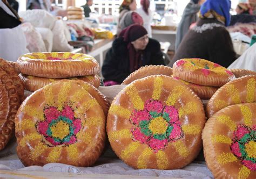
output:
M113 41L102 67L105 85L122 83L133 71L146 65L165 65L160 44L138 24L125 28Z

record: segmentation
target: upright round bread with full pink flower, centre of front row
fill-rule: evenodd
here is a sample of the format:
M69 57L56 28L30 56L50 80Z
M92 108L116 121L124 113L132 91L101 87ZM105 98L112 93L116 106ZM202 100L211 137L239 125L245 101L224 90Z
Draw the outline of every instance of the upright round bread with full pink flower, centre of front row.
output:
M185 84L154 75L127 85L107 116L113 151L133 168L179 169L201 147L203 104Z

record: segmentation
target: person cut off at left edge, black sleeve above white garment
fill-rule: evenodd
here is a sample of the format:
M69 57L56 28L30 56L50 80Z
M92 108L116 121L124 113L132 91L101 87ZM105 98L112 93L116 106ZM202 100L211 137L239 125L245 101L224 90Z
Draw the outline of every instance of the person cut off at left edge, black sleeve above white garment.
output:
M0 58L17 61L19 56L29 53L20 25L17 12L6 0L0 0Z

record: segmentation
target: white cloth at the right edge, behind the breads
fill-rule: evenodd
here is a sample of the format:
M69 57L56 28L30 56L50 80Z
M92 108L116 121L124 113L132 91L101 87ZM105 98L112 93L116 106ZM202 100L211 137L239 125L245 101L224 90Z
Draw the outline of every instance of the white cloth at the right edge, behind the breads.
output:
M256 71L256 43L248 48L228 69L248 69Z

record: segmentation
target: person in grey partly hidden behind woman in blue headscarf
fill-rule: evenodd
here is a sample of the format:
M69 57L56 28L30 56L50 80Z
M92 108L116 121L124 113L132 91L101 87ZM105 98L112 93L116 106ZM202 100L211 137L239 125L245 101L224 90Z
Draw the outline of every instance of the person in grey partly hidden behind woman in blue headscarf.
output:
M177 51L181 40L190 29L191 24L197 22L197 13L200 10L200 6L204 3L204 1L205 0L191 0L184 9L183 15L177 28L175 51Z

